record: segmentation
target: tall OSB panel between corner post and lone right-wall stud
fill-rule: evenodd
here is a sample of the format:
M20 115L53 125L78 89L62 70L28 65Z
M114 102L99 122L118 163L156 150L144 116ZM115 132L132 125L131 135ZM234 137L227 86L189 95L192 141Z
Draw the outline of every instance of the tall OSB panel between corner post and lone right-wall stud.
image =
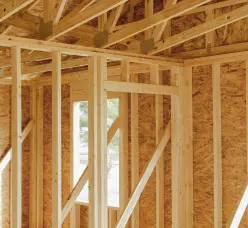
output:
M213 227L213 103L210 66L193 71L194 227Z

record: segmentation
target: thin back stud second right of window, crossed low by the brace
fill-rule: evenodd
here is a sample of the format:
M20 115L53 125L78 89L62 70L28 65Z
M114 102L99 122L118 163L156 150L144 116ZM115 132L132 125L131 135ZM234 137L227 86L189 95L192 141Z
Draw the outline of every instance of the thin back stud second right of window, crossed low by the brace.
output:
M138 75L131 75L131 82L138 83ZM139 182L139 100L138 94L131 93L131 189ZM132 213L132 228L139 227L139 203Z

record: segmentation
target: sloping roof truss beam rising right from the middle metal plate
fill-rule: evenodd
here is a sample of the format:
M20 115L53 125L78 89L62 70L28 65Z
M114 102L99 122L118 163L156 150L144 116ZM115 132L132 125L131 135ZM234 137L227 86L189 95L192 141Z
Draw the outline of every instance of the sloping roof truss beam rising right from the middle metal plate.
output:
M155 13L152 17L145 18L143 20L131 23L131 25L126 25L123 29L111 34L108 39L108 43L103 45L103 48L109 47L120 41L123 41L129 37L132 37L140 32L150 29L158 24L163 23L166 20L172 19L182 15L183 13L194 9L210 0L185 0L176 5L171 6L168 9L162 10Z

